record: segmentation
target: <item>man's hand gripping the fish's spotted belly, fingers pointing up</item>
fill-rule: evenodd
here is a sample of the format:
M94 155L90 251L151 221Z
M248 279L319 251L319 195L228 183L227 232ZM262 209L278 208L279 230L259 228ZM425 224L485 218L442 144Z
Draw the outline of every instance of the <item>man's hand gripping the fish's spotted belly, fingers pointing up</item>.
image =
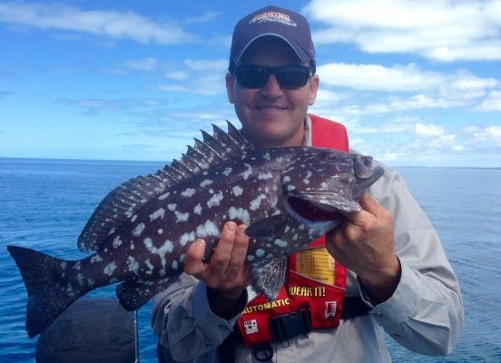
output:
M224 224L214 253L203 262L205 241L195 240L186 253L184 272L201 280L208 287L211 309L222 318L234 314L233 309L242 291L251 283L251 269L245 265L249 237L247 227L229 221Z

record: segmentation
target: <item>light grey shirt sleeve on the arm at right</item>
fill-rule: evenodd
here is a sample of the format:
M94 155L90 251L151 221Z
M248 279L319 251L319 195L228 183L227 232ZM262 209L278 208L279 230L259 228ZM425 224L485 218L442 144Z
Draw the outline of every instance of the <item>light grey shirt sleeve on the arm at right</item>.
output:
M464 312L457 277L437 232L397 172L386 168L371 193L393 215L402 272L392 297L370 313L402 346L430 356L449 354L463 328ZM360 292L371 305L363 286Z

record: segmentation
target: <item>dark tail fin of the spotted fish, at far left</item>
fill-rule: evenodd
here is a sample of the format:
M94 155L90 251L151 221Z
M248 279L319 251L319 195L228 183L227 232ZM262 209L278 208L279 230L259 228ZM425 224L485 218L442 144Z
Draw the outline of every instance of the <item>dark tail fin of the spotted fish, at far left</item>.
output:
M34 338L46 329L82 293L68 288L64 280L64 263L36 250L7 246L28 291L26 332Z

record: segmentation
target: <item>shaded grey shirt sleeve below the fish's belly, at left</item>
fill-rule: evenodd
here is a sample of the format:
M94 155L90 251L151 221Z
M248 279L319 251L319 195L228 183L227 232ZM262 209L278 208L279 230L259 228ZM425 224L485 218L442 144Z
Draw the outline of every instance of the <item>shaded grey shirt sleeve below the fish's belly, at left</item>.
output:
M243 310L247 300L245 293L238 311ZM175 360L217 361L217 348L240 315L230 320L216 315L210 309L205 284L183 273L153 297L152 328Z

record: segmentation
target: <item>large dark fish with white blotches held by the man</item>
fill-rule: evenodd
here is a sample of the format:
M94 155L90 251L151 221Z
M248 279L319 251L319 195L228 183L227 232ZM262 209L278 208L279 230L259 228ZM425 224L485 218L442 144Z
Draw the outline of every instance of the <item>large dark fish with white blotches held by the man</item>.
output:
M186 250L206 240L210 259L226 221L248 225L252 285L274 299L284 257L359 211L359 197L383 174L370 157L330 149L254 149L231 123L154 175L111 191L93 212L78 247L93 254L59 260L9 246L28 291L26 331L40 334L86 292L121 282L125 309L140 308L182 273Z

